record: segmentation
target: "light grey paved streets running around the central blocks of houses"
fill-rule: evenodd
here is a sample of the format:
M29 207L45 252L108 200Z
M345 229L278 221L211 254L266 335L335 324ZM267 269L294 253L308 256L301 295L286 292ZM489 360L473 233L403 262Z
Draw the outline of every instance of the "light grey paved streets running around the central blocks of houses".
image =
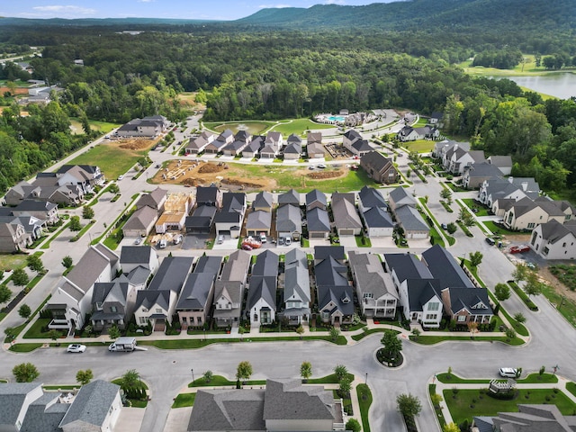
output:
M188 121L189 128L193 121ZM178 132L182 133L182 132ZM186 134L186 132L184 132ZM176 139L180 139L176 136ZM154 163L175 158L167 151L164 153L150 152ZM407 169L407 157L399 157L401 170ZM154 164L152 165L154 166ZM148 167L150 175L155 168ZM106 226L115 219L118 205L130 202L134 193L150 190L146 183L147 175L132 180L130 173L119 182L122 198L120 202L107 200L94 206L97 223L89 231L94 237L103 232ZM433 176L428 176L428 184L422 183L418 177L412 178L413 192L419 196L428 195L428 206L440 222L449 222L457 217L458 206L453 204L454 213L448 213L439 204L440 184ZM180 186L169 186L169 189L182 190ZM468 195L467 195L468 196ZM112 195L111 195L112 198ZM489 247L483 241L480 229L473 228L474 238L467 238L457 231L457 239L451 252L456 257L462 257L469 252L480 250L484 255L479 268L482 279L493 288L494 284L510 278L513 266L496 247ZM84 254L90 235L86 234L76 243L69 243L71 237L66 233L57 238L42 259L49 269L49 274L26 297L26 302L32 309L38 306L51 293L61 275L62 257L70 255L77 259ZM420 253L423 247L412 251ZM398 252L395 248L373 248L374 252ZM202 251L198 251L199 253ZM162 251L167 254L168 251ZM211 251L218 253L217 251ZM221 251L223 254L229 251ZM190 254L190 251L178 250L175 255ZM374 351L380 346L380 336L374 335L363 339L354 346L336 347L323 342L293 342L286 343L243 343L212 345L199 350L162 351L150 348L147 352L130 354L109 353L105 347L89 347L86 355L67 355L63 349L40 349L31 354L14 354L0 352L0 377L11 377L14 365L30 361L40 369L40 379L43 383L75 383L76 372L79 369L90 368L94 376L102 379L112 379L121 376L128 369L137 369L152 390L152 401L145 414L142 432L157 432L164 428L166 416L172 399L192 379L191 369L196 376L210 369L214 374L222 374L232 378L236 365L241 360L248 360L254 366L255 378L266 377L297 377L302 361L312 363L314 375L322 376L332 372L336 364L347 365L351 372L358 376L368 374L368 384L374 392L374 404L370 413L374 430L401 430L401 419L396 411L396 396L410 392L422 401L423 410L419 417L421 430L438 430L434 412L427 403L428 388L426 383L437 372L446 371L452 366L454 372L464 377L496 376L500 366L521 366L525 371L537 371L545 365L550 370L554 365L560 366L560 373L568 379L576 380L576 367L573 358L576 356L574 344L575 332L570 324L554 311L544 297L537 297L535 302L540 311L528 311L516 294L504 302L510 313L521 311L527 316L527 326L532 338L525 347L508 347L500 343L444 343L436 347L421 347L413 343L404 344L405 365L398 370L388 370L374 361ZM19 325L23 320L17 313L11 313L0 323L0 330Z

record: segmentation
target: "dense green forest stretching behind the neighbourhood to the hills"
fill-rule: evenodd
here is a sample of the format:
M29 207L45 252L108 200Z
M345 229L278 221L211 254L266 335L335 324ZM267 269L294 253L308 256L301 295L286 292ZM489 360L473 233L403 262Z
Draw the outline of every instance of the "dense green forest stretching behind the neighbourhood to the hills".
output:
M492 0L482 1L492 4ZM517 162L515 175L536 175L544 187L556 190L576 184L576 158L571 157L576 154L574 100L544 102L509 80L466 76L454 66L475 58L485 66L513 67L521 61L521 53L528 52L542 58L545 67L570 67L576 58L576 41L567 37L573 20L566 20L566 11L555 16L554 6L544 20L557 20L554 34L538 31L542 20L533 16L535 24L528 37L522 33L527 27L526 11L541 13L544 4L529 0L524 2L522 19L500 26L496 38L500 15L511 14L517 0L499 2L503 12L494 25L484 21L486 31L480 23L482 16L488 19L487 13L463 19L458 28L448 30L454 16L474 10L482 3L479 0L434 2L438 7L429 17L436 26L427 22L419 30L408 28L417 18L410 8L421 5L421 0L393 4L397 19L390 14L383 18L394 23L404 20L402 30L364 25L353 30L325 26L314 31L271 30L266 20L264 27L257 26L254 17L252 22L201 26L131 21L130 29L142 30L139 34L121 33L128 24L108 20L99 25L50 22L43 27L23 23L0 27L0 48L22 47L25 52L27 46L43 47L41 57L29 59L31 76L7 63L0 69L0 78L45 79L65 89L57 102L31 108L29 117L16 115L12 94L4 94L1 102L9 108L0 122L4 175L0 187L14 184L81 144L65 127L68 117L83 123L88 119L125 122L162 113L177 121L186 115L177 102L177 94L183 91L198 92L197 97L206 102L206 120L309 117L341 108L442 111L446 134L470 139L488 154L512 154ZM451 18L449 4L457 4ZM337 11L329 15L336 22L344 11L360 16L384 6L314 6L304 11L314 16ZM279 14L287 22L303 16L301 10L279 11L255 16L267 16L268 22ZM325 18L329 21L328 15ZM470 31L462 31L464 24ZM506 37L512 30L518 34ZM84 66L75 64L79 58ZM11 168L4 170L4 166Z

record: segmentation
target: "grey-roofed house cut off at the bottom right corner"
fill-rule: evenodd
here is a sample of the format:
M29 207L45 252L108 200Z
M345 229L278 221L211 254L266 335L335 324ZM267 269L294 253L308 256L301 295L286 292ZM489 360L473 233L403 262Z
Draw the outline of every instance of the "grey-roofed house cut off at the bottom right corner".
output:
M564 416L554 404L518 404L516 412L499 412L494 417L474 416L472 430L478 432L500 431L558 431L572 432L576 416Z

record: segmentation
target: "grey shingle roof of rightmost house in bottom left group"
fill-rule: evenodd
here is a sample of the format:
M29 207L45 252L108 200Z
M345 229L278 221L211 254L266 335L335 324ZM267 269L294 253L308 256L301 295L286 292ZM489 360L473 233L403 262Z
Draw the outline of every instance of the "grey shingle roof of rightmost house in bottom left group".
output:
M103 421L108 416L112 402L119 392L119 385L102 380L83 385L60 422L60 428L75 421L98 427L103 426Z

